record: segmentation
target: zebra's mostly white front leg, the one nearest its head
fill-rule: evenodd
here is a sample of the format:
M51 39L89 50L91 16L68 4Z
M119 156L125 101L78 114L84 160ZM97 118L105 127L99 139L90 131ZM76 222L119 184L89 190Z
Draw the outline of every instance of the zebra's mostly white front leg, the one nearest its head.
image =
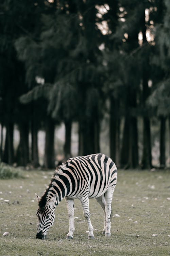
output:
M68 217L69 217L69 232L67 234L67 239L73 239L74 233L74 200L70 198L65 198L67 203Z

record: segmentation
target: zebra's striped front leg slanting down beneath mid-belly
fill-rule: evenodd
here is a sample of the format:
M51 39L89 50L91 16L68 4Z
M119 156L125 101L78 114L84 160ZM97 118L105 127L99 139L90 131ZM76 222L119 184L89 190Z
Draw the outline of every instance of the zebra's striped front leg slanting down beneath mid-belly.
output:
M88 238L89 239L94 239L94 233L93 233L93 226L91 224L91 221L90 221L90 210L89 210L89 199L88 199L88 196L86 197L83 197L80 199L81 200L81 203L82 203L82 207L83 207L83 212L84 212L84 217L86 218L87 220L87 224L88 224Z

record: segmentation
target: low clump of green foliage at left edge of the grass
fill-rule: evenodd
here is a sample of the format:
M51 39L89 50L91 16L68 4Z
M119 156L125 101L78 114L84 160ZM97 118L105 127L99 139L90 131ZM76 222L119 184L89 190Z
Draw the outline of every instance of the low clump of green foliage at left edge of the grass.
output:
M22 178L23 171L18 168L11 167L5 163L0 163L0 179Z

